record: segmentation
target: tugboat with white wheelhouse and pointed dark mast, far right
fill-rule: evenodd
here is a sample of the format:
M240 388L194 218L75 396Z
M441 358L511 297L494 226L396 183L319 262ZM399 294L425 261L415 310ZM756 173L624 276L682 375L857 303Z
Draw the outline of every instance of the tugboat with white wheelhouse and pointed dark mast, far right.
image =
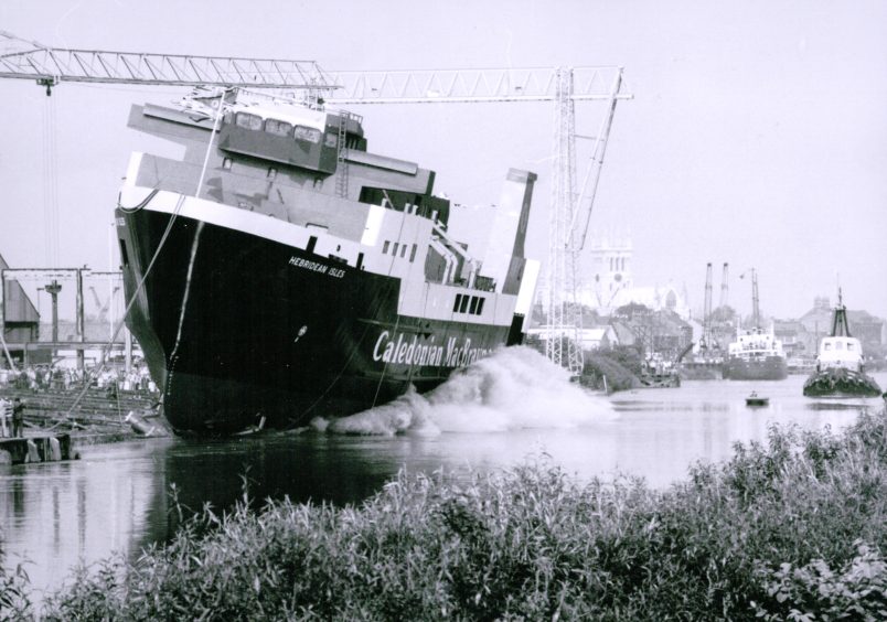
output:
M863 344L851 336L841 289L832 318L832 334L820 342L816 371L804 383L806 397L877 397L880 387L865 373Z

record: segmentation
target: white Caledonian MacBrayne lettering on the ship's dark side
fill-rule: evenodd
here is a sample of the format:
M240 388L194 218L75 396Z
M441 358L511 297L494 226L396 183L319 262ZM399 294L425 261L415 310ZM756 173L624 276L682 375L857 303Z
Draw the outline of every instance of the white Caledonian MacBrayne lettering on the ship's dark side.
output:
M373 361L402 365L464 367L491 352L492 350L488 347L471 347L470 337L461 341L459 337L449 337L445 346L436 344L434 336L428 343L421 343L417 335L413 335L410 340L402 333L392 336L388 331L382 331L373 348Z

